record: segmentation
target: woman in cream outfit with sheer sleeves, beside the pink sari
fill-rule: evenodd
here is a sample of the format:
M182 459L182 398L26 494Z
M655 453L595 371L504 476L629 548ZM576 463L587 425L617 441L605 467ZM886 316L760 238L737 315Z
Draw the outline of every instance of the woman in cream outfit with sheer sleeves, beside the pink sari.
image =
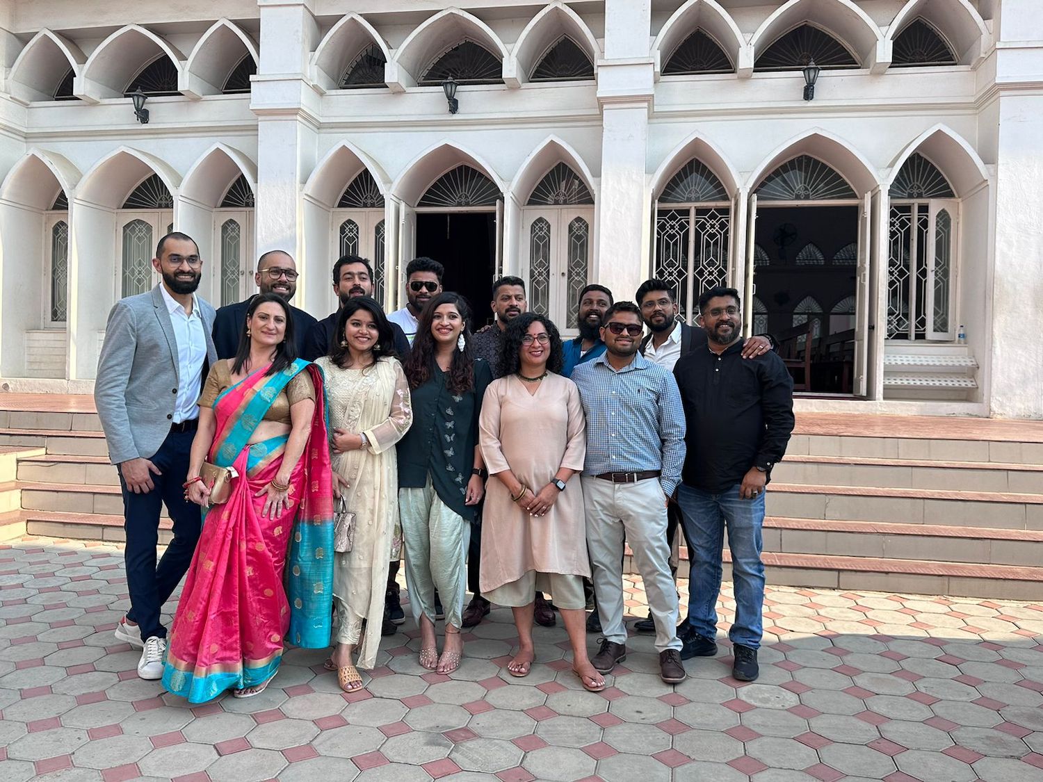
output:
M351 692L362 688L351 658L356 647L358 667L375 665L388 563L402 549L394 445L413 413L381 306L368 296L349 299L334 334L330 355L315 363L326 381L335 490L355 514L355 527L351 549L334 555L338 631L328 667L337 671L340 688Z

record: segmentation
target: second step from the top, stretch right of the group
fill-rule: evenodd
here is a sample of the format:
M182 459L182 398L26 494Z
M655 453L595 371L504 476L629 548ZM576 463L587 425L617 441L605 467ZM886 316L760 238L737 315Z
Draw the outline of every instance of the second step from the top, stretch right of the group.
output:
M1002 462L942 462L787 454L772 470L772 479L780 483L809 486L876 486L1043 494L1043 465Z

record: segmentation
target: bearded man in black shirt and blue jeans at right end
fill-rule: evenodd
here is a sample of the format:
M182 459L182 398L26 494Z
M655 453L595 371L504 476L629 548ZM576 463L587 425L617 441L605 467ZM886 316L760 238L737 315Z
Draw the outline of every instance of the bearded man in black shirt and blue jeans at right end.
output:
M685 657L717 654L717 600L728 530L735 621L732 676L757 678L765 566L760 529L765 487L793 432L793 378L774 352L744 360L738 292L711 288L699 297L707 346L678 360L674 376L687 421L687 456L677 502L688 552L688 617L679 635Z

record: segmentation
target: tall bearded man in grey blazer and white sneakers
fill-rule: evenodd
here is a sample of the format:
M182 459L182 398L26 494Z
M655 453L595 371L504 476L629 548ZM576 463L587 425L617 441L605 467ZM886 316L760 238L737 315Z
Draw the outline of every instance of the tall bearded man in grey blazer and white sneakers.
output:
M152 266L163 277L108 314L94 401L123 489L124 554L130 610L116 637L142 650L138 676L160 679L166 628L160 609L192 562L199 507L185 497L189 453L199 418L196 400L210 364L214 308L195 295L202 260L191 237L160 240ZM173 540L156 565L162 505Z

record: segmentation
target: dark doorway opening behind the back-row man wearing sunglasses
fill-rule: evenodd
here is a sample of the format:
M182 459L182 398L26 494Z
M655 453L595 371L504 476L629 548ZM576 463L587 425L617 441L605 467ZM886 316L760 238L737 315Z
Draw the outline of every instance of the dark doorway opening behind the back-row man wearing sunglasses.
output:
M441 212L416 215L416 254L445 267L442 289L467 299L471 331L492 322L489 300L496 273L496 216L492 212Z

